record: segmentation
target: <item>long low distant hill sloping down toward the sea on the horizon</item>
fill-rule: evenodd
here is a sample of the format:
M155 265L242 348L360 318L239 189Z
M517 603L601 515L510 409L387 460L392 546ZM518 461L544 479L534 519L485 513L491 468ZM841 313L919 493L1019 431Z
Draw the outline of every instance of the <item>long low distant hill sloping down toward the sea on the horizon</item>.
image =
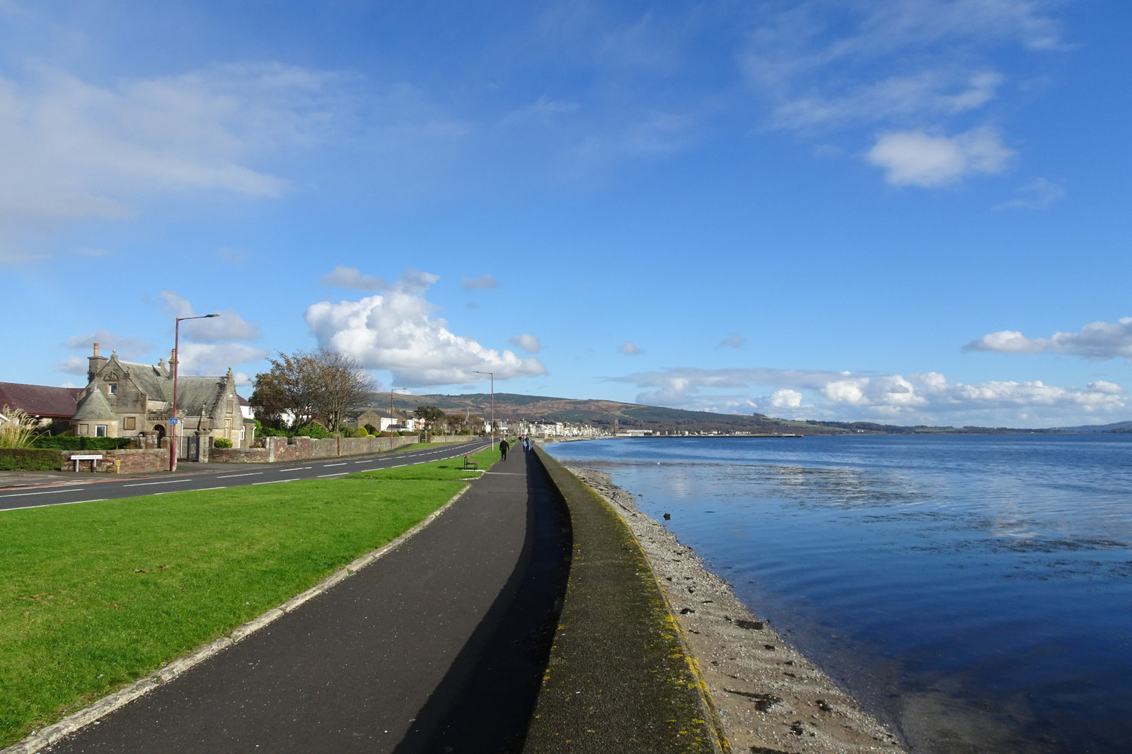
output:
M375 405L388 405L389 393L375 393ZM394 393L394 405L412 410L418 406L437 406L448 414L472 413L482 418L490 414L491 395L477 392L463 396L404 396ZM508 422L568 422L590 424L616 432L618 430L652 430L654 432L749 432L755 434L847 434L847 433L1004 433L1047 432L1047 430L1011 430L1007 427L931 427L899 426L873 422L791 421L763 414L714 414L689 411L663 406L623 404L598 398L574 399L549 396L522 396L512 392L495 395L496 418ZM1132 423L1125 423L1132 424Z

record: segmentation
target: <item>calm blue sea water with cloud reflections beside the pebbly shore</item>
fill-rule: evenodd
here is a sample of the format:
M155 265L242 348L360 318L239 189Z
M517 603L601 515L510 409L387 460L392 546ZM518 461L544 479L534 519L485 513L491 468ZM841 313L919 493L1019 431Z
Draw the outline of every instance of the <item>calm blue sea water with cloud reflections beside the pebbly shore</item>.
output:
M636 439L607 471L915 752L1132 752L1132 436Z

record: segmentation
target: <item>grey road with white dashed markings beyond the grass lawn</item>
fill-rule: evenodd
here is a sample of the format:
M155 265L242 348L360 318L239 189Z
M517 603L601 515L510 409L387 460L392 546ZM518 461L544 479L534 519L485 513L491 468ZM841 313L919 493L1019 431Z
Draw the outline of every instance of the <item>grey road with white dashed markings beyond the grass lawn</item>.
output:
M419 450L385 452L372 456L345 456L321 458L295 463L232 463L231 468L218 468L220 463L183 463L177 474L151 474L130 477L108 478L102 474L74 475L74 480L46 484L36 487L11 487L0 489L0 511L44 505L89 503L120 497L160 495L166 492L200 489L223 489L257 484L282 484L299 479L331 479L398 466L427 463L449 458L461 458L487 448L488 441L475 440L460 444L444 444ZM196 466L196 468L194 468ZM204 470L207 469L207 470ZM87 478L93 477L93 478ZM2 482L0 482L2 484Z

